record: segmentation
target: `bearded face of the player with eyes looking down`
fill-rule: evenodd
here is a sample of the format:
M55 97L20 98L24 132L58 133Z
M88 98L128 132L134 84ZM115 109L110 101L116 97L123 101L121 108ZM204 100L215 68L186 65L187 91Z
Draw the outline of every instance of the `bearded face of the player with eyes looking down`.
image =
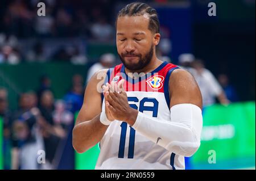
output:
M149 18L121 16L117 20L117 52L129 70L140 70L150 63L160 34L148 30Z

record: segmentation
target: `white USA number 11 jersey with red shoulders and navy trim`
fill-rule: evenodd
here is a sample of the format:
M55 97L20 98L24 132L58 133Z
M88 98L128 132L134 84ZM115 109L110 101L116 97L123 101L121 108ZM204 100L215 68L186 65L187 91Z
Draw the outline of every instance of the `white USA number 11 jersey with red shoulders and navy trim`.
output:
M121 77L126 79L124 86L131 107L159 120L171 121L168 82L174 69L177 69L176 65L163 62L137 81L129 78L120 64L108 71L107 79L108 82L118 81ZM183 156L150 141L121 120L114 120L109 125L100 141L100 149L95 169L185 169Z

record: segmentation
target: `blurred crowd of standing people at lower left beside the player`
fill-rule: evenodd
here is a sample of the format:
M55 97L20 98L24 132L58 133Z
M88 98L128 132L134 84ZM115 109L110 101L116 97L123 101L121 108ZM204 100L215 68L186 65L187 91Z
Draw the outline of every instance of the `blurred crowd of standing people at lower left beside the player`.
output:
M43 75L38 90L22 92L18 109L12 111L7 89L0 87L4 169L57 168L73 128L74 114L83 102L83 84L81 75L73 75L70 91L63 99L56 100L51 79ZM45 164L39 164L40 150L44 151L41 161Z

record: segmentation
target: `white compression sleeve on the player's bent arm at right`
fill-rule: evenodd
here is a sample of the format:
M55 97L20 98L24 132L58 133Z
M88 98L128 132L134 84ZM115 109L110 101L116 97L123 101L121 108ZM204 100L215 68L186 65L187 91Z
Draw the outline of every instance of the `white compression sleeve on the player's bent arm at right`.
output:
M188 157L200 146L201 110L192 107L175 111L175 108L171 109L171 120L157 120L139 112L135 121L128 120L127 123L163 148Z

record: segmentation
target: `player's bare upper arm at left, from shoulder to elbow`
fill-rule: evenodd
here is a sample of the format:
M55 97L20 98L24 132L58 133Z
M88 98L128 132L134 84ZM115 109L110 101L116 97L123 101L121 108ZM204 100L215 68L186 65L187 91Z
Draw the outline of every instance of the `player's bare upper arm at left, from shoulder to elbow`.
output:
M105 81L106 71L107 69L98 71L88 82L84 93L84 103L77 116L76 125L89 121L101 113L101 87Z

